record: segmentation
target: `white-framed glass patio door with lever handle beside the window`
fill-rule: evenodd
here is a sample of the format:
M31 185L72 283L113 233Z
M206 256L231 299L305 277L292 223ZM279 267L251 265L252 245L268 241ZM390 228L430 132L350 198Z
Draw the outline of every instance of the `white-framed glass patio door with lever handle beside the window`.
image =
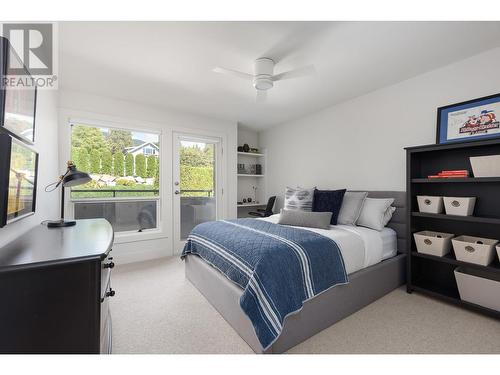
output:
M219 217L220 152L218 138L174 133L174 252L180 253L191 229Z

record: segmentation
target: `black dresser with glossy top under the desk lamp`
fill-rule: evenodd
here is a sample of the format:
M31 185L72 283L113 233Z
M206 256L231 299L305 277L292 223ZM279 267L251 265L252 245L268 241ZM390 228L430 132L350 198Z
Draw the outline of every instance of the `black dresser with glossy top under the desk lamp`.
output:
M77 220L0 249L1 353L111 353L113 238L105 219Z

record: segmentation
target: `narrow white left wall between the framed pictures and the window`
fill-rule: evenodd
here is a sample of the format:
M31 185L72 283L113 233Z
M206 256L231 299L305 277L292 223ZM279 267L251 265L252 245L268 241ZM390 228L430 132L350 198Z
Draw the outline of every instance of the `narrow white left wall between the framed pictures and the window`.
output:
M57 164L57 99L55 90L38 90L35 117L35 146L39 153L35 214L0 228L0 247L19 237L40 222L59 218L59 191L44 188L59 177Z

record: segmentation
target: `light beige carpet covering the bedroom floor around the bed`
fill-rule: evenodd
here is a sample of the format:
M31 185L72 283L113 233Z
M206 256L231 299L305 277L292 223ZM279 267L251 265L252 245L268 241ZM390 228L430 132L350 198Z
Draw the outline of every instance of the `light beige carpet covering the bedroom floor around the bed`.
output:
M114 353L252 353L178 258L115 268ZM500 322L395 290L290 353L500 353Z

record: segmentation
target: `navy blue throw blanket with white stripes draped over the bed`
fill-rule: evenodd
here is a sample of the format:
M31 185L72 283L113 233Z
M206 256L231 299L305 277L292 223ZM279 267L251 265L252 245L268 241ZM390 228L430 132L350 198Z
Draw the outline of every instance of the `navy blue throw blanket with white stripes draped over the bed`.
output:
M196 226L182 258L196 254L243 288L240 306L266 350L287 315L325 290L348 282L338 245L320 234L257 219Z

